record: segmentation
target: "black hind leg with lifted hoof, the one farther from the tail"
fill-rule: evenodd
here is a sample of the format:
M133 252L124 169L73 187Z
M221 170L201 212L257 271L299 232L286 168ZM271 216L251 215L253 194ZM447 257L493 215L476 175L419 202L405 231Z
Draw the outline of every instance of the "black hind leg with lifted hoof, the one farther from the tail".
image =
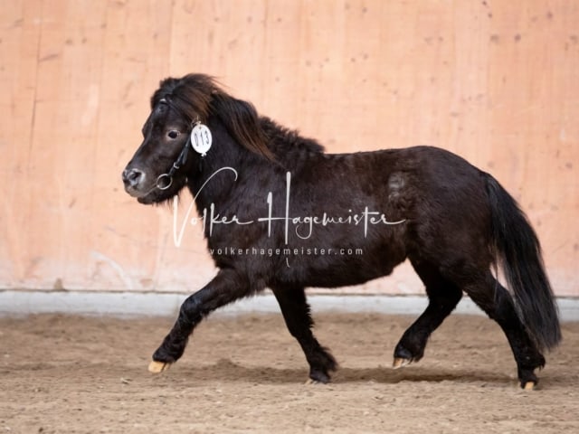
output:
M433 264L418 260L412 260L412 264L426 286L429 304L396 345L394 368L422 359L429 336L451 314L462 297L460 288L443 278Z

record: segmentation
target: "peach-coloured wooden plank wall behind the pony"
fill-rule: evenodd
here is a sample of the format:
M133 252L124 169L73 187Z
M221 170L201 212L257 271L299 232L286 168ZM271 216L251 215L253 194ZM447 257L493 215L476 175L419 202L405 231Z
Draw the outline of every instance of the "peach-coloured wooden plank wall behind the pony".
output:
M430 144L527 210L579 296L579 2L11 0L0 5L0 288L191 291L196 228L128 197L158 80L214 74L329 151ZM415 293L403 269L365 290ZM359 289L359 288L358 288Z

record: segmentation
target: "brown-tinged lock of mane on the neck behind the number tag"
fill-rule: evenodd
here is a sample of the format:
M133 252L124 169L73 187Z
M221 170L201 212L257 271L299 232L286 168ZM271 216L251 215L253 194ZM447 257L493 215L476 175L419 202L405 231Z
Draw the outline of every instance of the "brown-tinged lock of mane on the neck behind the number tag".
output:
M275 157L268 147L267 137L260 125L260 117L253 104L235 99L223 91L214 91L211 113L223 122L229 133L242 146L254 154L273 161Z

